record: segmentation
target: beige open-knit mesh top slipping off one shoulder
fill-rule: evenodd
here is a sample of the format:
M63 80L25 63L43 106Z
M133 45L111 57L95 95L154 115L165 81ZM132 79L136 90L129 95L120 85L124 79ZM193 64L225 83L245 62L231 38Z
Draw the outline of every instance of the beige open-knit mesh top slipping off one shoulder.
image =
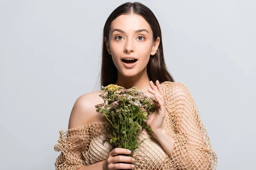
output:
M138 141L147 138L135 149L135 170L215 170L217 155L201 121L197 105L189 89L181 82L162 82L166 102L163 128L175 139L172 156L147 130L138 135ZM59 131L54 150L61 151L55 161L56 170L77 170L79 167L104 161L112 146L102 141L108 122L90 122L86 125Z

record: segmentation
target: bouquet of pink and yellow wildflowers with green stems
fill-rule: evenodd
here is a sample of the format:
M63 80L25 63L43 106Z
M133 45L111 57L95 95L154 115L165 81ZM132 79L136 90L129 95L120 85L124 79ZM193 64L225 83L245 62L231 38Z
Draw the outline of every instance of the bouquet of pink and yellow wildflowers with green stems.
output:
M103 144L108 141L113 148L129 149L130 154L122 155L132 156L134 150L145 140L136 142L140 130L145 128L153 133L145 122L148 113L155 110L157 102L154 96L149 98L136 87L125 89L122 86L110 84L106 87L102 86L101 89L102 93L99 96L104 99L104 103L95 105L96 111L110 122L110 126L106 127L110 134Z

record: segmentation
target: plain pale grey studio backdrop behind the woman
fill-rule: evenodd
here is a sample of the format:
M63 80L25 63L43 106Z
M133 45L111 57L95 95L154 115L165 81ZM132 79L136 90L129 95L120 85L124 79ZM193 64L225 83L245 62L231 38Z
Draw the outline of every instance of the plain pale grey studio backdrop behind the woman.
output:
M76 99L99 90L103 26L125 2L0 0L0 169L55 170L58 131ZM217 169L254 169L255 1L139 2L160 23L168 70L198 105Z

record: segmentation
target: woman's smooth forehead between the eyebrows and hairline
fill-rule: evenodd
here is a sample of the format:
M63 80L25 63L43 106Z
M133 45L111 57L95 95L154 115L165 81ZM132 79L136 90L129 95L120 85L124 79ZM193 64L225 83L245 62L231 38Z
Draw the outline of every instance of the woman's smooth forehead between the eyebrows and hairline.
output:
M111 23L110 34L112 30L116 28L125 31L127 34L133 34L133 32L138 29L147 29L148 33L152 34L152 30L148 22L137 14L122 14L116 17L116 19Z

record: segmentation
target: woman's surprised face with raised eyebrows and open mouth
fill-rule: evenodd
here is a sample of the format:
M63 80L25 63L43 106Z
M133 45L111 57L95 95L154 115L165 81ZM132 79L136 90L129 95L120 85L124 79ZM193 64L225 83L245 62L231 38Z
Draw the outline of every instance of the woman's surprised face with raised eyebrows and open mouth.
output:
M146 69L150 55L157 52L159 42L159 37L153 42L153 32L149 24L137 14L120 15L113 20L109 41L105 39L108 53L111 54L117 70L125 77L133 77ZM131 68L122 61L122 57L138 60Z

